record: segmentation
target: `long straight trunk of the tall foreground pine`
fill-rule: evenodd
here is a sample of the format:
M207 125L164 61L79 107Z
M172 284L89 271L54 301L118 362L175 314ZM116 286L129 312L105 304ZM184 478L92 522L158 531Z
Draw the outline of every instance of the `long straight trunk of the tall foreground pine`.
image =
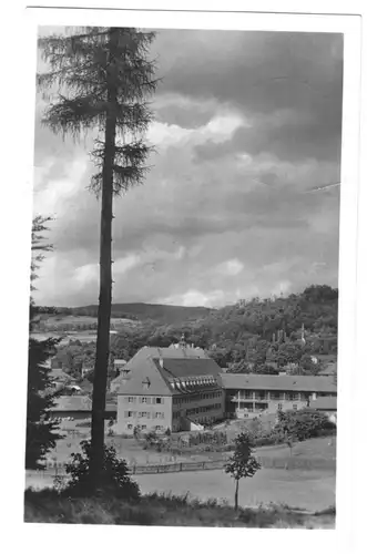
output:
M112 199L113 199L113 164L115 156L116 135L116 91L113 84L111 54L114 41L119 40L115 32L110 32L110 68L108 70L109 109L104 135L104 161L102 170L102 206L100 238L100 297L98 310L96 351L92 397L92 430L91 430L91 483L94 490L102 484L104 456L104 413L108 382L108 366L110 355L110 321L112 302Z

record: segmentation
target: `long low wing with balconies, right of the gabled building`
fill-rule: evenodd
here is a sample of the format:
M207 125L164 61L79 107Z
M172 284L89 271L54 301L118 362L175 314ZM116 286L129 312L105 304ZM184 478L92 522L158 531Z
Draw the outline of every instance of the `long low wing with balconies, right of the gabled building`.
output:
M318 376L272 376L222 373L225 390L225 413L238 419L299 410L319 398L335 398L333 379Z

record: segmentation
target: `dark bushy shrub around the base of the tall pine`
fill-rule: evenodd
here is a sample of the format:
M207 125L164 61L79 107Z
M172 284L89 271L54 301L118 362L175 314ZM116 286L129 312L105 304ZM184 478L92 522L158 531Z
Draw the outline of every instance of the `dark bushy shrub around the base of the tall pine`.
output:
M94 495L94 484L90 474L91 442L81 442L81 453L71 454L72 461L67 464L67 474L71 476L63 493L71 497ZM137 499L140 489L131 480L125 460L116 455L114 447L104 445L102 493L119 499Z

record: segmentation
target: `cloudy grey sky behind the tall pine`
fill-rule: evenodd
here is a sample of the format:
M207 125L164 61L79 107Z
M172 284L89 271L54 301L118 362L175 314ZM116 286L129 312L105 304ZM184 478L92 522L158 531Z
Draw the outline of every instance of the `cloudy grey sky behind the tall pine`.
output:
M337 286L343 37L160 31L155 145L116 198L114 302L223 306ZM41 66L42 69L42 66ZM38 302L98 302L99 211L89 142L40 124L34 214L54 215Z

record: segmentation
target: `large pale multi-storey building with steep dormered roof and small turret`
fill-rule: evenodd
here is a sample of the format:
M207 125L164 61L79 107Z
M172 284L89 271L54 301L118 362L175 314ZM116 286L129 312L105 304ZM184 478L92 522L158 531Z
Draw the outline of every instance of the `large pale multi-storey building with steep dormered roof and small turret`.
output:
M118 433L187 431L224 416L221 368L204 350L142 348L118 389Z

